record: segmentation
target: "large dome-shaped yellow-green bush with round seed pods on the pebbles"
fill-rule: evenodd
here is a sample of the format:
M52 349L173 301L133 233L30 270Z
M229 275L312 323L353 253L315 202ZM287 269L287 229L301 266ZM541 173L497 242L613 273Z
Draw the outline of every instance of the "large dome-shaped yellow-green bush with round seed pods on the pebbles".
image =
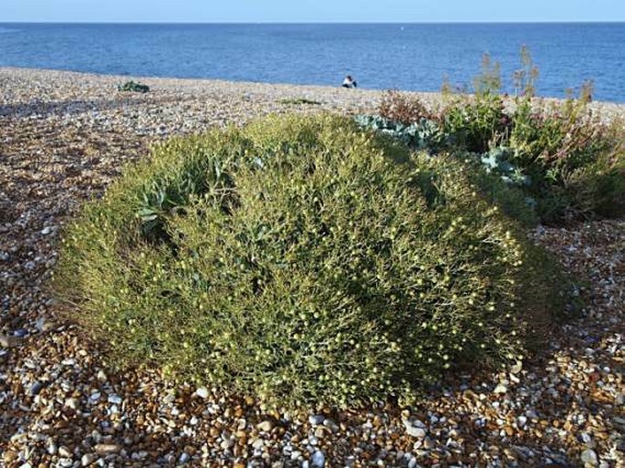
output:
M55 286L122 365L286 405L409 398L565 310L470 179L327 116L171 140L68 226Z

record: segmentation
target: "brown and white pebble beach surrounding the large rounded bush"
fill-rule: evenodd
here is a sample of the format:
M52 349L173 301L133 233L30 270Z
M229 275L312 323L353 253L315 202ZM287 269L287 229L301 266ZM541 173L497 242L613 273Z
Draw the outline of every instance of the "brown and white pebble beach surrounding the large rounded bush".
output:
M410 408L270 411L158 369L113 371L106 337L60 318L47 290L80 204L156 141L270 113L371 113L382 98L173 78L119 92L128 79L0 68L0 466L625 467L623 219L532 230L585 280L584 317L536 356L448 376Z

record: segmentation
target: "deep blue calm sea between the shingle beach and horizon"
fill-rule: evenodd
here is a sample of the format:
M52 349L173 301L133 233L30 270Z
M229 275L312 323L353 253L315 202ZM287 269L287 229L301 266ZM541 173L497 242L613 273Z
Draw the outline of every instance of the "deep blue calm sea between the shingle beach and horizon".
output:
M484 53L513 91L519 49L541 96L594 81L625 102L625 23L607 24L0 24L0 66L115 75L223 78L436 91L470 87Z

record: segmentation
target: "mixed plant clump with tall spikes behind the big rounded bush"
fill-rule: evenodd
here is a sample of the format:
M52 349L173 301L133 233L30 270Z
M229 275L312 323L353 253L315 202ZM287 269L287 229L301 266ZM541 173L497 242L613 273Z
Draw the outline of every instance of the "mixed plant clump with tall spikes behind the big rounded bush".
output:
M608 124L589 111L591 81L577 99L542 106L534 99L539 73L526 47L520 57L516 98L509 109L495 94L501 86L499 67L484 56L474 96L454 95L445 84L445 99L451 103L435 115L391 92L379 109L389 119L359 117L359 124L415 149L453 152L474 170L481 165L489 175L481 178L484 195L492 199L497 193L496 199L506 200L505 213L521 216L517 219L523 224L620 215L625 210L625 126L621 121ZM505 185L495 182L497 177ZM489 182L496 186L486 186ZM514 193L505 195L506 186ZM517 203L521 198L525 202ZM528 209L536 214L528 216Z

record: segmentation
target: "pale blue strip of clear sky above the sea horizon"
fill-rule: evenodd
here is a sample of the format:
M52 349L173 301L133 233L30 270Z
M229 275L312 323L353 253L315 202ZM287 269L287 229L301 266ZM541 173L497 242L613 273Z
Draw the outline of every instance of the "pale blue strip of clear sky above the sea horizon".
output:
M0 0L1 22L625 21L625 0Z

